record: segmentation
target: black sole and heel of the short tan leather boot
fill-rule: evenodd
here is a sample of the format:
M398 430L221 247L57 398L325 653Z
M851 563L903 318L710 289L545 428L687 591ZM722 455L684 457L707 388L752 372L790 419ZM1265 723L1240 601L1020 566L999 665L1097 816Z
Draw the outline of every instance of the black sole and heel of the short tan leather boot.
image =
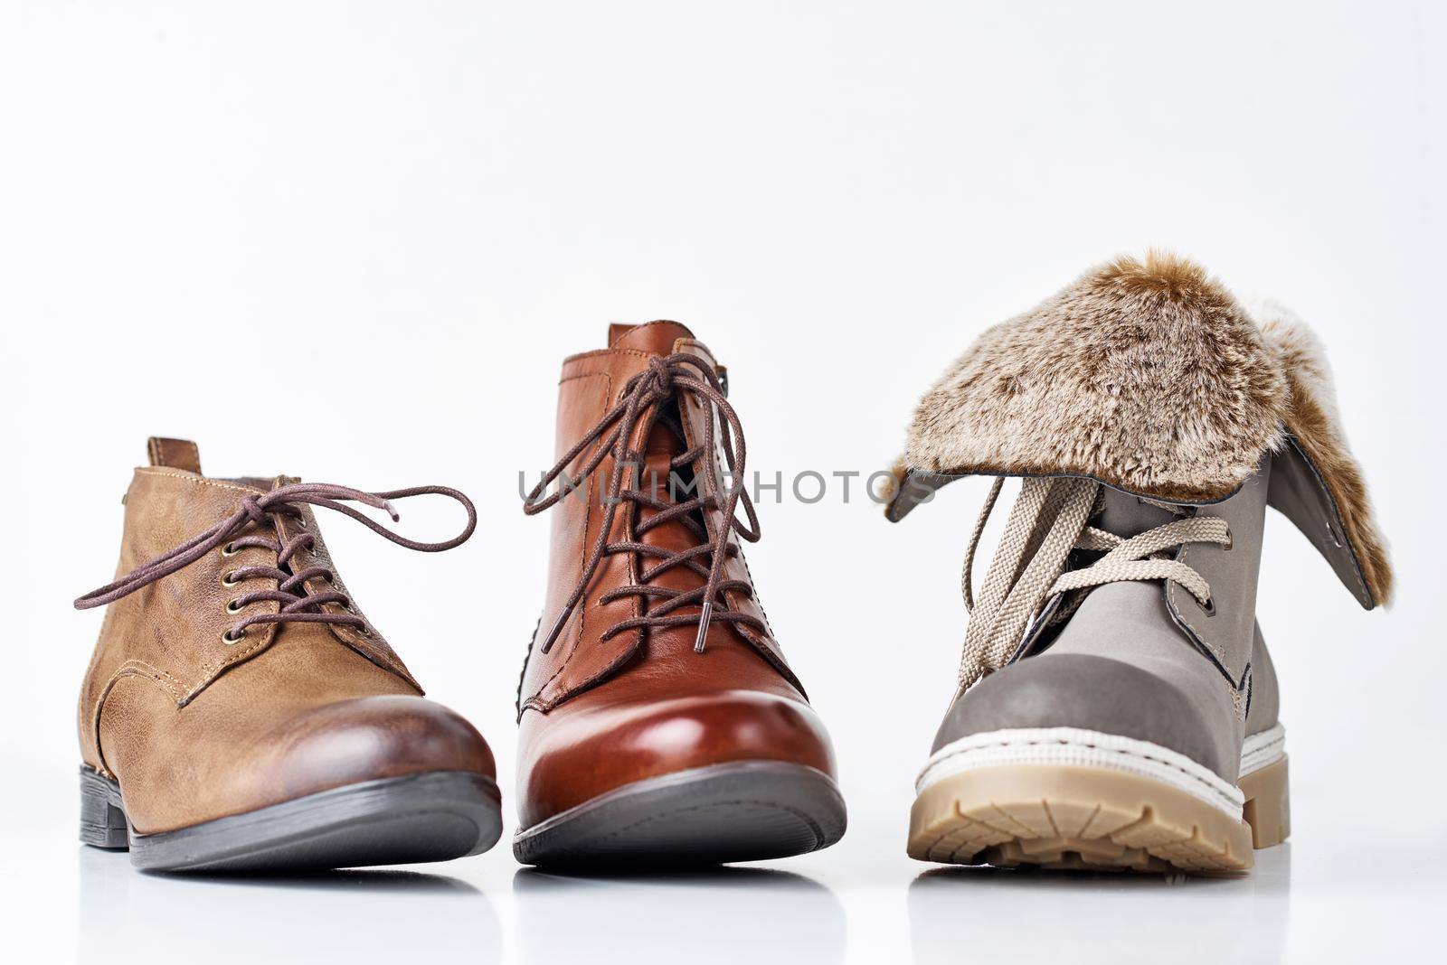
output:
M447 861L502 835L498 786L433 771L334 787L190 828L137 835L120 787L81 767L81 841L152 871L317 871Z

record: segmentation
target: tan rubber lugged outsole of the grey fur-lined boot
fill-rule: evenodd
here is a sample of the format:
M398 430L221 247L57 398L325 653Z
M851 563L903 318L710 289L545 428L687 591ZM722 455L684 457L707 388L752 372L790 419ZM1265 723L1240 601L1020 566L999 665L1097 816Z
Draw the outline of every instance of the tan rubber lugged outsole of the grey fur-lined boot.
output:
M1134 871L1244 871L1252 848L1291 834L1286 758L1239 782L1240 818L1149 777L1064 764L1003 764L926 787L909 854L948 864Z

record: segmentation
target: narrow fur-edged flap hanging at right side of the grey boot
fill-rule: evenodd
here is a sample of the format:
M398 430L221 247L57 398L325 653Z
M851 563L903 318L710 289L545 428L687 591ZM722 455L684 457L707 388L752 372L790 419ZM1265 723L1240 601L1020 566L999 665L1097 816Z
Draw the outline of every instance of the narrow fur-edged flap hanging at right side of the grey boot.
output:
M1362 467L1347 448L1325 348L1299 318L1275 302L1253 303L1250 313L1281 358L1291 386L1291 409L1283 416L1286 428L1337 504L1341 527L1356 550L1367 591L1378 604L1386 604L1392 598L1386 540L1376 527Z

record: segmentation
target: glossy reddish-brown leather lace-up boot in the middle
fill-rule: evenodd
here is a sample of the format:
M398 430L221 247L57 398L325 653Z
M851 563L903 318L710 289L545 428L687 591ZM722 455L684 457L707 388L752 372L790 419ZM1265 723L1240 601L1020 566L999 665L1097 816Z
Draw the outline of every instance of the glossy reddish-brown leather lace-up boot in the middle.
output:
M724 370L677 322L614 325L608 341L563 363L559 462L525 506L553 509L553 545L518 691L514 854L825 848L845 826L833 751L739 550L758 523L732 485L745 451Z

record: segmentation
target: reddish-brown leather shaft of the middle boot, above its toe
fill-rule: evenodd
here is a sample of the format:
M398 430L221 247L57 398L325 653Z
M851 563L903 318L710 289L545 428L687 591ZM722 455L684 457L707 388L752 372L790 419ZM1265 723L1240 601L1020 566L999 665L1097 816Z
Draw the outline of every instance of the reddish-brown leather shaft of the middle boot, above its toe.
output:
M670 380L669 387L654 393L653 380L660 378ZM722 365L686 326L669 321L614 325L608 348L564 360L556 439L561 468L556 491L561 496L544 506L553 514L548 587L521 679L519 715L527 708L551 709L596 686L644 650L655 669L673 666L686 678L687 669L697 669L690 657L696 657L699 646L744 647L802 691L752 589L738 527L724 511L726 487L742 484L725 454L738 433L706 391L687 387L710 383L722 394ZM653 393L651 402L637 413L622 467L608 430L579 448L611 416L616 419L611 432L616 433L627 417L621 403L627 409L631 396L645 391ZM622 490L641 490L647 498L612 500L616 507L609 514L606 497L615 475ZM670 513L671 506L695 497L709 498L684 516ZM664 522L658 523L660 517ZM582 597L570 607L605 526L608 548L628 545L640 550L603 552ZM699 594L713 555L697 553L683 565L666 563L666 556L697 550L719 535L725 546L719 550L722 589L713 610L739 618L710 620L700 640L705 601ZM693 600L673 605L664 592L692 594ZM674 626L645 623L660 607Z

